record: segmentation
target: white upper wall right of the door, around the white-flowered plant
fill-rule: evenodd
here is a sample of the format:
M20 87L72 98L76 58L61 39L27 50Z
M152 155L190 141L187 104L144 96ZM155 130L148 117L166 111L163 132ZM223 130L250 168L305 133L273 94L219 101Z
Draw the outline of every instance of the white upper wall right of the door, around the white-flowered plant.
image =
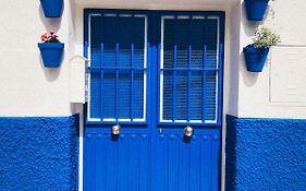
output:
M242 8L243 7L242 1ZM281 35L280 46L284 47L272 48L270 51L269 60L267 61L264 71L261 73L246 72L243 55L240 57L240 74L238 74L238 117L254 117L254 118L306 118L306 97L304 102L292 103L285 102L287 96L285 92L280 95L280 99L283 102L271 103L270 96L273 94L271 89L274 84L271 84L271 79L274 77L276 72L272 71L271 65L287 68L289 60L271 59L276 53L286 53L292 51L292 48L299 47L305 50L306 46L306 2L303 0L276 0L269 2L269 11L266 14L266 19L260 22L246 21L245 11L241 9L242 22L240 34L240 52L243 51L243 47L252 43L252 36L258 25L266 25L277 31ZM283 51L283 52L279 52ZM298 64L305 64L305 51L297 53L295 60ZM304 55L303 55L304 53ZM233 64L233 63L231 63ZM279 68L278 68L279 69ZM282 72L278 74L278 79L283 79L287 84L295 84L296 80L306 81L306 70L303 65L299 70L287 71L290 75ZM301 70L303 69L303 70ZM276 69L274 69L276 70ZM280 69L282 70L282 69ZM296 94L304 95L305 88L294 89ZM282 98L283 96L283 98ZM295 95L298 96L298 95Z

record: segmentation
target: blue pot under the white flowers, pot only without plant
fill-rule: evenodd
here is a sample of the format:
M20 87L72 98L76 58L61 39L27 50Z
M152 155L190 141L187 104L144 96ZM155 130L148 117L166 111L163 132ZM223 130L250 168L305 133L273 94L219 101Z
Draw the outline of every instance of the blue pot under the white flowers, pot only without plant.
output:
M246 70L261 72L269 53L269 48L255 48L252 45L243 48Z

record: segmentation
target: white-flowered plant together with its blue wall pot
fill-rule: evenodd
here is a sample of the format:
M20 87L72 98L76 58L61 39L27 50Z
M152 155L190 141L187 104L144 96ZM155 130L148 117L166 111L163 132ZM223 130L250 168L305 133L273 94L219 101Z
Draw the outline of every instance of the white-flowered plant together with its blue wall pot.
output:
M270 28L258 27L253 44L243 48L246 69L249 72L261 72L269 53L269 48L280 41L280 36Z

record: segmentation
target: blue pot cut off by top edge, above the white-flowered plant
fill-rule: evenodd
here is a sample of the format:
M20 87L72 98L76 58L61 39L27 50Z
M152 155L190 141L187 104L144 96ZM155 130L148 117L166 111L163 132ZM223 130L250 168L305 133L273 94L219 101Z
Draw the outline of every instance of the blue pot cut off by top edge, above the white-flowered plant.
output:
M246 17L249 21L261 21L266 13L269 0L245 0Z

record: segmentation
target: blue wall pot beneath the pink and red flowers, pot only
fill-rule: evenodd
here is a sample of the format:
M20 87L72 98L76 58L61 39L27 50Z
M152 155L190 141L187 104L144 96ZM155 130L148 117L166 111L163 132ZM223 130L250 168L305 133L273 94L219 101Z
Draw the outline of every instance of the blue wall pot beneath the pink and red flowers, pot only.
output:
M44 65L58 68L61 64L64 44L62 43L39 43L38 47L42 57Z

